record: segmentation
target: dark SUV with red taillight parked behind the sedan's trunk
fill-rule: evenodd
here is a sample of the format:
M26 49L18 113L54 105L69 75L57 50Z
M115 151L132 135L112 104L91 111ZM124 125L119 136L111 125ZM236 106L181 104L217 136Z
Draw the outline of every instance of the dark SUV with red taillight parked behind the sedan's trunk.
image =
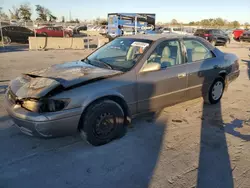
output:
M229 36L220 29L197 29L194 36L202 37L209 41L213 46L226 45L230 42Z

